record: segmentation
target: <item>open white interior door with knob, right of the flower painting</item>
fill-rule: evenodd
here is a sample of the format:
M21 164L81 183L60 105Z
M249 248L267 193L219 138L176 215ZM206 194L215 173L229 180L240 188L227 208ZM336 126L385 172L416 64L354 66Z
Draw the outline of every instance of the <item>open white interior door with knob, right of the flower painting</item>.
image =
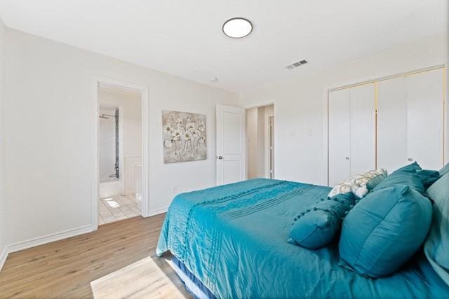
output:
M245 110L217 105L217 186L246 179Z

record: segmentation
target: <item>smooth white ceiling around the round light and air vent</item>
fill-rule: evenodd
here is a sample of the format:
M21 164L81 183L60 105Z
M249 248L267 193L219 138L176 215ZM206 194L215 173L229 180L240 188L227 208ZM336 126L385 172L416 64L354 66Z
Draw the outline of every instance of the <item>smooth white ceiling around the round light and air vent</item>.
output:
M13 29L239 92L447 32L448 1L0 0L0 17ZM253 32L225 36L222 24L234 17L251 20Z

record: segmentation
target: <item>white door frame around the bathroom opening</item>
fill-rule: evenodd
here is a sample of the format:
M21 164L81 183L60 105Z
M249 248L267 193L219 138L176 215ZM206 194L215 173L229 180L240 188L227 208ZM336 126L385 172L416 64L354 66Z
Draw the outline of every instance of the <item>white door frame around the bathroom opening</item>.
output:
M98 90L100 85L111 86L128 90L139 91L141 95L142 112L142 216L149 216L149 90L146 86L119 81L101 76L91 76L92 84L92 113L95 124L93 140L93 169L92 169L92 202L91 202L91 223L92 230L98 229L98 200L100 199L100 152L98 142L98 130L100 116L100 102L98 101ZM121 165L123 168L123 165Z

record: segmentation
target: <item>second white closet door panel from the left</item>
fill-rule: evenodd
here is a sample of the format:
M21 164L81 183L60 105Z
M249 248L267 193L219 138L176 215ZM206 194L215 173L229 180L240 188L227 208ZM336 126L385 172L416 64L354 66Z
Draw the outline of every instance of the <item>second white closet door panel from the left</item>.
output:
M375 169L374 83L351 88L351 175Z

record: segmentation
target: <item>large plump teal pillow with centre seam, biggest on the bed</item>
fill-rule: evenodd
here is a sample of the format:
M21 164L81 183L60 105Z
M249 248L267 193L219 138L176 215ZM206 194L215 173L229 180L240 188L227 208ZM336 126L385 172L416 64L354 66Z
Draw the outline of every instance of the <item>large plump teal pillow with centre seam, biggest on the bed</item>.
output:
M427 197L408 186L368 193L344 218L340 257L364 276L388 276L420 248L431 215Z

